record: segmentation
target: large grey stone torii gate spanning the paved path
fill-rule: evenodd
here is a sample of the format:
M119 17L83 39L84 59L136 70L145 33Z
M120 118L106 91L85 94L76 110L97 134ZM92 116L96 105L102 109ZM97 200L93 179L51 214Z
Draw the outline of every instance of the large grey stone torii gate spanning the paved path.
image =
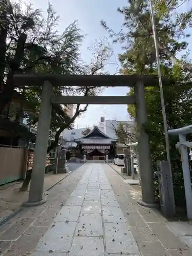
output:
M39 75L18 74L13 78L15 86L42 86L40 113L33 172L31 177L29 199L26 205L34 206L44 203L45 163L50 129L51 104L135 104L139 165L141 167L142 200L139 204L155 207L154 182L151 166L151 154L148 135L143 129L146 122L144 86L158 86L156 76L140 75ZM111 86L134 87L133 96L53 96L54 86Z

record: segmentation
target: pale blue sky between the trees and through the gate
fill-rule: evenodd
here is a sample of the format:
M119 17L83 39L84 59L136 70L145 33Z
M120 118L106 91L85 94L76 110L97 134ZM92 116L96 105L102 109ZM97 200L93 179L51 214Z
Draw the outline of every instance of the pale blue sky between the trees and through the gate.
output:
M40 8L45 12L47 10L48 0L26 0L26 3L28 2L31 2L35 8ZM81 47L82 58L89 63L92 53L87 50L88 47L98 38L109 37L108 32L101 27L100 21L105 20L110 28L119 31L124 20L123 15L117 12L117 8L126 6L127 0L50 0L50 3L53 4L54 10L60 16L59 32L65 30L74 20L78 21L79 27L86 35ZM187 6L183 5L182 9ZM113 52L114 56L110 62L116 62L118 54L122 52L121 46L113 44ZM114 63L114 65L106 66L105 69L113 74L116 68L117 64ZM124 96L127 92L129 92L128 87L106 88L101 95ZM92 127L94 124L98 124L101 116L126 121L129 119L126 108L126 105L89 105L87 112L76 119L75 126L78 128Z

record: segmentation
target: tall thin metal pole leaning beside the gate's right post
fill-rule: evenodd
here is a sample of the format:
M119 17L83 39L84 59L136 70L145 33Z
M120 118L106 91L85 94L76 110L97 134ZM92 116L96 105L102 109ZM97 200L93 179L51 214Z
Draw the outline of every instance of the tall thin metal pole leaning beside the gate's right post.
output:
M160 59L159 59L159 51L158 51L158 44L157 44L157 35L156 35L152 0L150 0L150 11L151 11L151 22L152 22L152 29L153 29L153 36L154 36L154 43L155 43L156 59L157 59L157 70L158 70L158 76L159 76L159 88L160 88L161 109L162 109L163 125L164 125L164 133L165 133L166 154L167 154L167 161L170 168L169 175L170 175L170 178L172 178L172 169L170 165L170 154L169 154L169 140L168 140L168 131L167 131L167 120L166 120L165 103L164 103L163 86L162 86L161 69L160 69Z

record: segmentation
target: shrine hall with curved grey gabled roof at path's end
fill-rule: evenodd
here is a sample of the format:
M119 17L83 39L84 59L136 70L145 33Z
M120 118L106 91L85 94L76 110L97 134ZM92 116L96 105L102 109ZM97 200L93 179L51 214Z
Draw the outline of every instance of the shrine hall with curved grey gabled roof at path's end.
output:
M78 145L79 154L82 156L86 152L88 160L104 160L106 153L109 154L109 158L115 155L116 140L105 135L97 126L86 136L74 141Z

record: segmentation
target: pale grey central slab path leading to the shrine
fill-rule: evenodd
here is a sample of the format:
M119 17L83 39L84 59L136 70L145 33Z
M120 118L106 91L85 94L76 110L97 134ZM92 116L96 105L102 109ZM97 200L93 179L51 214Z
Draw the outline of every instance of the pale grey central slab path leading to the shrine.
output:
M101 164L89 165L33 256L139 256L139 249Z

